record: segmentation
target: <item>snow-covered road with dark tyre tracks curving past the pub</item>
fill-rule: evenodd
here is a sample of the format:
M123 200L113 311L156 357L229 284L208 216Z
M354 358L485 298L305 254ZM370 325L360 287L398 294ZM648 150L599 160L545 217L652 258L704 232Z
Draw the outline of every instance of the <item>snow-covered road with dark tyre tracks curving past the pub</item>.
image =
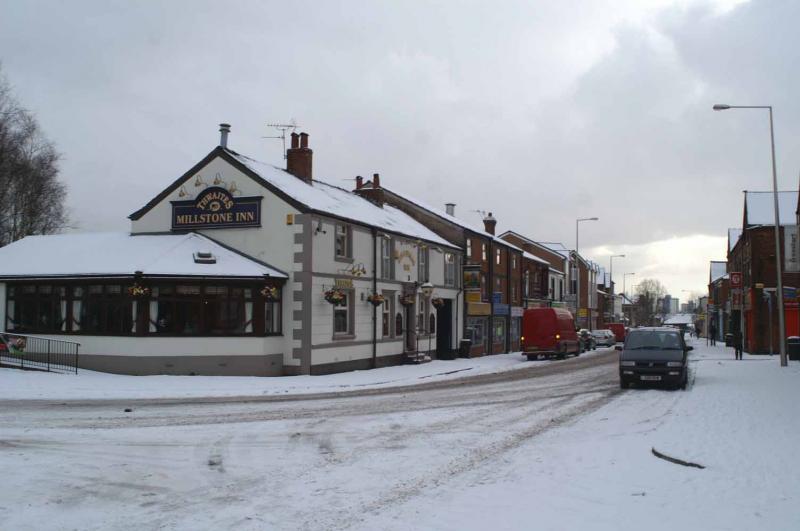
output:
M264 402L63 406L0 416L13 529L341 529L606 403L613 351L481 385ZM534 373L530 373L533 375ZM8 404L8 403L7 403Z

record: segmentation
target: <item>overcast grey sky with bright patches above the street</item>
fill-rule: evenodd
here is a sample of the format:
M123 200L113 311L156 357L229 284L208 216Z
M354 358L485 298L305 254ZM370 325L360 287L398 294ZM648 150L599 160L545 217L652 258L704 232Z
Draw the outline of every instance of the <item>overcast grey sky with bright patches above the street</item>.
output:
M800 172L796 1L20 2L0 62L63 153L82 231L127 230L218 143L382 183L474 222L575 245L628 286L704 291L742 190ZM634 280L632 280L634 279Z

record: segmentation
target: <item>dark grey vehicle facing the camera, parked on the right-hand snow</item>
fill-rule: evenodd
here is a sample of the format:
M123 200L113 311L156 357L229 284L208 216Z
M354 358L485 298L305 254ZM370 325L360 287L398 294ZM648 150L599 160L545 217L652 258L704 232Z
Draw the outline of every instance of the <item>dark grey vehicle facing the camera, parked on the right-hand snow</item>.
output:
M674 328L636 328L617 346L619 385L665 384L686 389L689 379L688 353L683 334Z

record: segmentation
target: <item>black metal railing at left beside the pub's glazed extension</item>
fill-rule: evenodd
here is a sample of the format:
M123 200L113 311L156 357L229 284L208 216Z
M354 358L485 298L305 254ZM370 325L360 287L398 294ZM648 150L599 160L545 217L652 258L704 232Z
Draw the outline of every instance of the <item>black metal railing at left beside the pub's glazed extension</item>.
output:
M78 373L80 343L24 334L0 333L0 364L5 367Z

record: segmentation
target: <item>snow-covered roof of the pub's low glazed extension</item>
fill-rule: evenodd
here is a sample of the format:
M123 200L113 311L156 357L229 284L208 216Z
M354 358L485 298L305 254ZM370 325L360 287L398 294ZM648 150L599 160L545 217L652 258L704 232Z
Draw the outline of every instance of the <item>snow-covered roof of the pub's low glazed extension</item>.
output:
M196 263L210 252L216 263ZM287 278L201 234L98 232L28 236L0 248L0 277L144 275Z

